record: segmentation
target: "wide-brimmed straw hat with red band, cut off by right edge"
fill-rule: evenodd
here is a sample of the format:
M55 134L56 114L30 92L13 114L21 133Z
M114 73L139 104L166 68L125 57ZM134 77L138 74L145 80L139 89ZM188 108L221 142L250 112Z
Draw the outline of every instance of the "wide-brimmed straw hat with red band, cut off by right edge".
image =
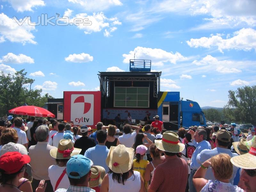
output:
M231 163L243 169L256 168L256 140L253 141L250 151L244 155L232 157Z

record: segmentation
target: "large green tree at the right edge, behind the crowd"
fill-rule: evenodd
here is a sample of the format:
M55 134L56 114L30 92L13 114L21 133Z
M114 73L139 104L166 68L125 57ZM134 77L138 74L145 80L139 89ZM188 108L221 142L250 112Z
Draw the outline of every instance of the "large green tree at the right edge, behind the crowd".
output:
M228 93L225 117L230 121L256 125L256 85L229 90Z

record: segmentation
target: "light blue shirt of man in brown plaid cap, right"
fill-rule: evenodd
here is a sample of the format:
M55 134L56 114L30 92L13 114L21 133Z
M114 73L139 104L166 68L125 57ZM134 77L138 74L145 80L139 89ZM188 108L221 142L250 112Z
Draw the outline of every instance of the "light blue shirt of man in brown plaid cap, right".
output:
M220 153L225 153L228 154L230 157L238 156L236 153L232 153L229 149L227 148L221 148L221 147L216 147L214 149L204 149L201 153L199 153L196 157L196 161L201 164L204 163L206 160L210 159L212 156L215 156ZM229 182L233 185L234 178L236 177L236 172L238 170L238 167L233 165L233 173L232 177L230 178ZM212 173L212 167L206 170L205 177L204 179L207 180L215 180L215 177L213 176Z

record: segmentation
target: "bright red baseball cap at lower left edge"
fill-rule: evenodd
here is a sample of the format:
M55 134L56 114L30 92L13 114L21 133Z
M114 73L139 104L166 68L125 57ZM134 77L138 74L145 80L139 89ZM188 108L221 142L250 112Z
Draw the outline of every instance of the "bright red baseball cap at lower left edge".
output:
M24 164L30 162L28 155L21 155L19 152L7 152L0 157L0 169L5 171L5 174L18 172Z

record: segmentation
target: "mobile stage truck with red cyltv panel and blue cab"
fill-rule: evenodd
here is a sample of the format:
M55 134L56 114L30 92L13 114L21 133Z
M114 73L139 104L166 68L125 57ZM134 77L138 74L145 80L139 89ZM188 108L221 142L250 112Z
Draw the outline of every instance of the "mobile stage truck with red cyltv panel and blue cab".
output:
M99 72L100 91L64 91L64 103L60 103L61 99L49 99L48 109L54 109L58 116L63 104L63 120L92 128L99 121L115 124L117 114L123 123L128 114L135 123L146 114L151 123L158 115L164 128L174 131L180 126L206 125L197 102L180 100L180 92L160 92L161 73L151 72L151 60L130 60L130 72ZM57 106L51 107L53 104Z

